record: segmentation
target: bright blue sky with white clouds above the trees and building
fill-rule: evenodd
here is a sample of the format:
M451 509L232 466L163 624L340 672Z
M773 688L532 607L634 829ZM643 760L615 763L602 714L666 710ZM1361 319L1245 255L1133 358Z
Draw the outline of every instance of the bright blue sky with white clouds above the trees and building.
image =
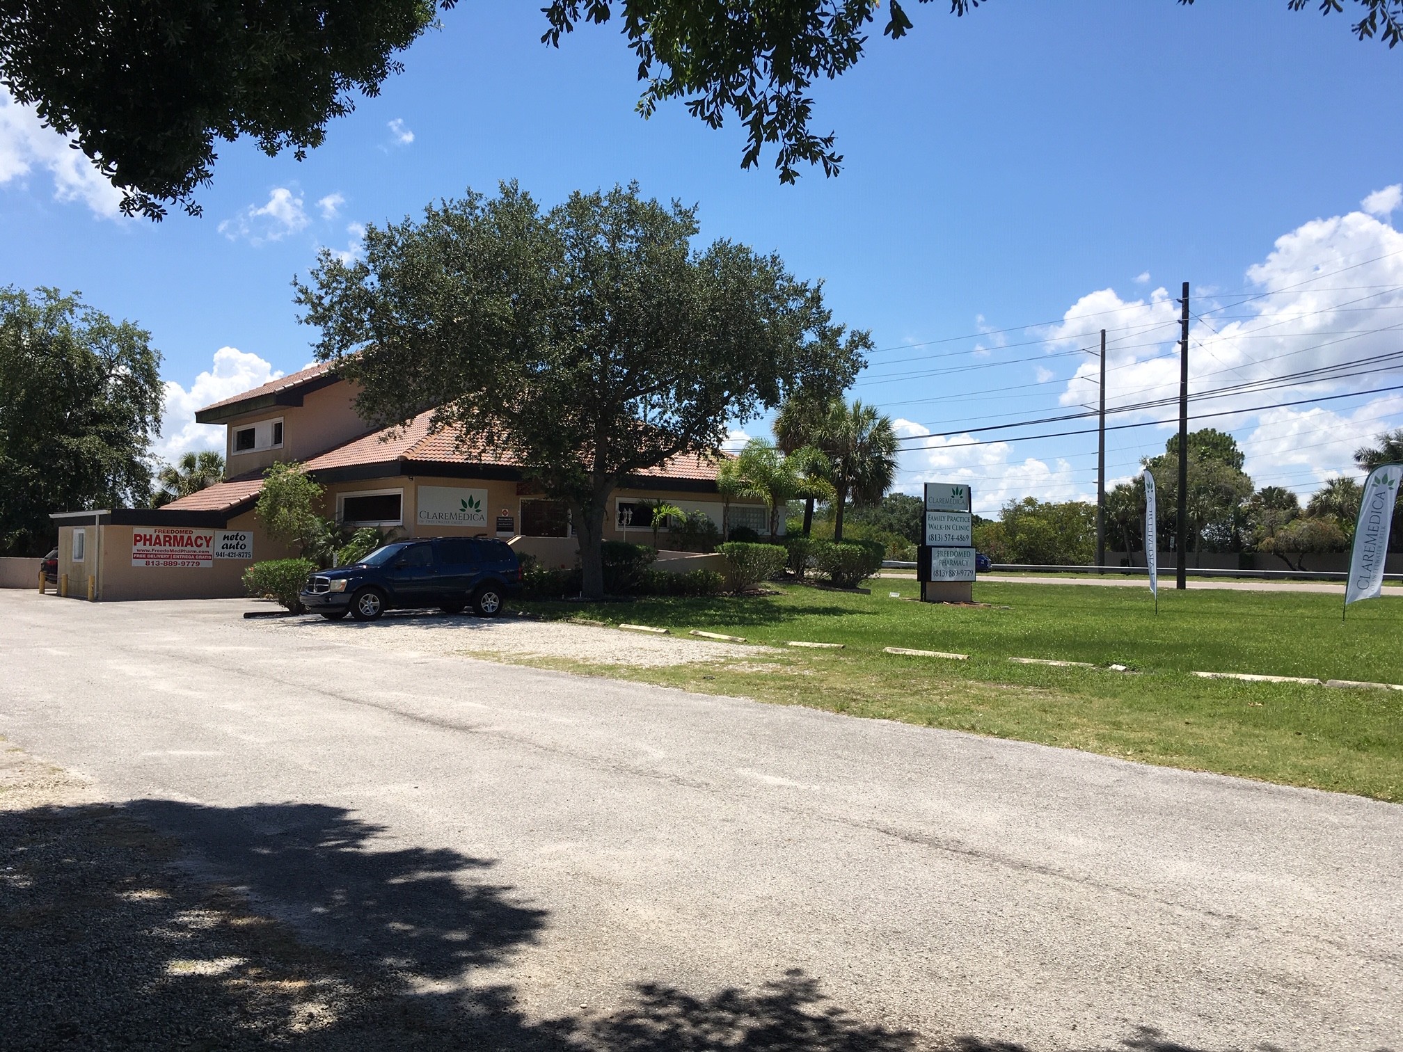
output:
M152 330L170 454L209 442L194 407L310 360L290 281L318 245L355 251L358 224L502 178L547 203L638 180L699 203L703 237L777 250L824 278L836 316L881 348L854 394L912 438L902 485L960 478L982 509L1094 494L1094 435L1013 438L1086 424L967 429L1094 400L1076 375L1094 363L1066 352L1103 325L1113 407L1173 394L1166 341L1184 279L1201 316L1194 390L1399 348L1403 330L1379 331L1403 323L1397 50L1284 0L1000 0L960 20L941 3L912 15L911 36L877 31L853 73L815 91L815 125L838 133L846 166L797 187L779 185L773 157L741 171L739 130L713 132L680 104L638 118L616 27L553 50L537 4L460 3L303 163L224 144L201 219L114 219L81 159L0 98L0 283L79 289ZM1403 424L1403 393L1369 394L1403 384L1403 369L1368 367L1218 398L1202 411L1232 415L1204 424L1239 436L1258 483L1309 492ZM950 369L962 372L936 372ZM1113 432L1110 477L1164 436ZM991 438L1007 440L969 445Z

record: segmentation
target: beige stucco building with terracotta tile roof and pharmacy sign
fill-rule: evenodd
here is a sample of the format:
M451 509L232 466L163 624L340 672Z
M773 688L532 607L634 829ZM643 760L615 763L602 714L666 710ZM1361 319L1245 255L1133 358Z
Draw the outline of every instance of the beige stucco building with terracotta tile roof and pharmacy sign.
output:
M578 544L568 512L546 499L508 457L456 435L431 433L425 412L400 429L368 431L355 386L318 365L206 405L195 419L224 425L227 481L164 508L60 512L59 574L69 595L94 599L240 596L253 561L286 558L254 505L269 464L303 461L325 487L323 513L400 537L492 533L549 565L571 565ZM651 540L638 501L665 499L721 523L716 461L676 457L640 473L610 498L606 536ZM731 505L731 526L763 530L765 506Z

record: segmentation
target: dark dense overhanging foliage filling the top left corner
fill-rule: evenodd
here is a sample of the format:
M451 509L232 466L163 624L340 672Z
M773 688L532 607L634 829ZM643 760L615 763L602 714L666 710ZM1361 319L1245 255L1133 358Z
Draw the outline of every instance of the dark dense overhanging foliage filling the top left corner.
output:
M303 157L432 21L434 0L0 0L0 84L73 136L126 215L198 215L216 139Z

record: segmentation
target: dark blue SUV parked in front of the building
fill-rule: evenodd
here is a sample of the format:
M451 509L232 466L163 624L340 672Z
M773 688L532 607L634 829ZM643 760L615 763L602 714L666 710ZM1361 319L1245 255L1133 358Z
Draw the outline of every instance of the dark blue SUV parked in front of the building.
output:
M300 598L309 613L331 621L347 614L373 621L386 610L429 606L462 613L469 603L480 616L495 617L521 581L521 562L506 541L435 537L386 544L355 565L320 569Z

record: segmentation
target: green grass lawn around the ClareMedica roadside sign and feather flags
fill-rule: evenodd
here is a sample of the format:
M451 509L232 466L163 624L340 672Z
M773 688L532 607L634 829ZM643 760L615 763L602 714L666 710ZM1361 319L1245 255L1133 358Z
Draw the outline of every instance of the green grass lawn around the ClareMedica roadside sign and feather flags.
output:
M979 582L975 599L988 606L955 607L888 596L913 596L913 582L870 584L870 596L784 586L745 599L526 603L546 617L702 628L779 647L845 645L751 652L731 666L532 663L1403 801L1403 692L1187 675L1403 683L1397 599L1358 603L1341 623L1333 595L1167 591L1156 616L1139 589ZM718 645L718 654L737 651L746 656ZM1010 656L1122 663L1138 675L1016 665Z

